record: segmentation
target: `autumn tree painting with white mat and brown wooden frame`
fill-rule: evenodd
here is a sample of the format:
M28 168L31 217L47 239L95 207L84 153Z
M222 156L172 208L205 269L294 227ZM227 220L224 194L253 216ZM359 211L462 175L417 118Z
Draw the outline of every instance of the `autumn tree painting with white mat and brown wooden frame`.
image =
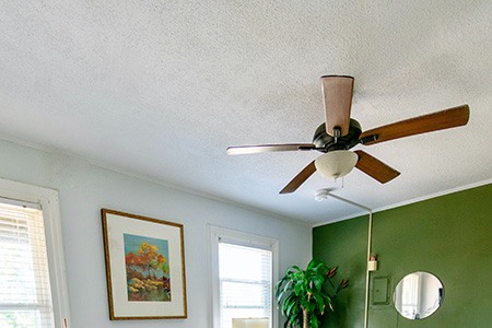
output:
M183 225L102 209L109 318L187 317Z

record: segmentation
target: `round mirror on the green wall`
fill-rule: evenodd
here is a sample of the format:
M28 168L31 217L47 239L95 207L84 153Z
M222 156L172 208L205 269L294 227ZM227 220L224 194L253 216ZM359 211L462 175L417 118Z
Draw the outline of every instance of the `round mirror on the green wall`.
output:
M394 302L396 309L408 319L423 319L443 303L444 288L432 273L417 271L398 282Z

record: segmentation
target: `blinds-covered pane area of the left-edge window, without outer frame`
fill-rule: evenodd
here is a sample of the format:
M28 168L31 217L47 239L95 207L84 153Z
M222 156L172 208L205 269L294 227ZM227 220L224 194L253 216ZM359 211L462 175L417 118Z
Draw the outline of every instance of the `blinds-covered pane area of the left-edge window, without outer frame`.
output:
M0 327L55 327L43 212L0 199Z

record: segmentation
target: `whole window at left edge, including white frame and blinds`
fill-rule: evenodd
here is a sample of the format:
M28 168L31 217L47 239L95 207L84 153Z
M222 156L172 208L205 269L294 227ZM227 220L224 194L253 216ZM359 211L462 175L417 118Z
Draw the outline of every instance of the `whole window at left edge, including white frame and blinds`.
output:
M68 298L55 190L0 179L0 327L63 327Z

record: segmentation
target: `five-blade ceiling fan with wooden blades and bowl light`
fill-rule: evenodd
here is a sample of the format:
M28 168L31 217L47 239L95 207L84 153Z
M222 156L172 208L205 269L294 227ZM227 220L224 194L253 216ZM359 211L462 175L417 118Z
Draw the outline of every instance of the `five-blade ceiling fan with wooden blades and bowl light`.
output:
M324 153L304 167L280 194L294 192L316 171L325 176L337 178L347 175L353 167L356 167L385 184L396 178L400 173L362 150L353 152L349 150L360 143L371 145L393 139L464 126L468 122L470 116L468 105L461 105L363 132L361 125L350 117L353 81L352 77L347 75L321 77L326 122L316 129L313 143L230 147L227 148L227 154L309 150Z

